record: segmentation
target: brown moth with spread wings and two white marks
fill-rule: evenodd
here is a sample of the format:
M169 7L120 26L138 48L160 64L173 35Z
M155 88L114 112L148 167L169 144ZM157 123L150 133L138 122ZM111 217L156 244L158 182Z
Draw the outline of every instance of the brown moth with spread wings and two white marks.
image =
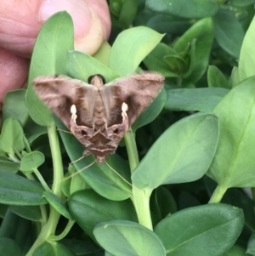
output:
M94 154L101 164L160 93L164 77L144 72L104 85L100 75L90 77L89 83L60 75L37 77L33 84L42 101L85 145L83 156Z

